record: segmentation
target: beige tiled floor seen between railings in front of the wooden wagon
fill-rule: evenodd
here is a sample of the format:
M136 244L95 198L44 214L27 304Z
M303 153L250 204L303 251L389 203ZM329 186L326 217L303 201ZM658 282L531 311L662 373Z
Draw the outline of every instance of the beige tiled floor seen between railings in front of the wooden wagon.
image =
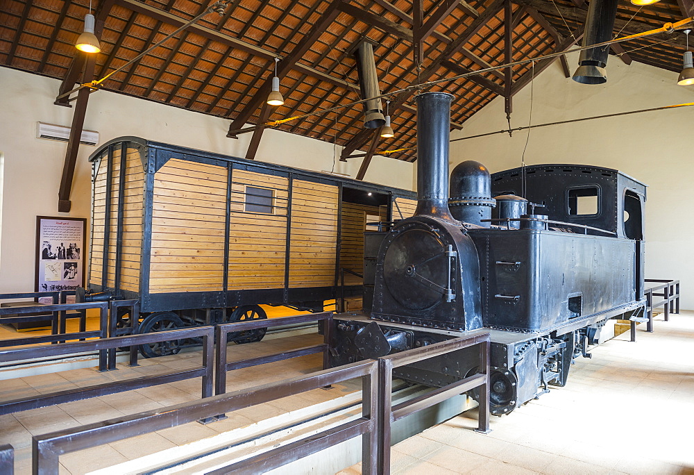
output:
M276 353L284 349L296 349L323 341L320 335L296 335L288 338L267 340L255 344L229 345L229 360L253 358L264 353ZM238 369L228 373L227 390L239 390L251 385L301 376L322 369L321 354L303 356L262 367ZM73 369L67 372L29 376L0 381L0 401L17 399L31 394L42 394L56 390L72 389L108 381L133 378L171 371L172 368L199 366L201 351L181 353L177 356L141 359L142 366L128 367L119 364L115 372L99 373L95 368ZM61 474L84 474L92 470L110 467L120 462L133 460L157 451L187 444L194 440L210 437L248 426L254 422L280 415L291 410L310 406L360 390L360 384L334 385L330 390L314 390L295 397L279 399L262 406L246 408L229 414L227 419L208 425L198 423L169 428L140 437L77 453L60 456ZM0 416L0 444L15 447L15 473L31 473L31 437L43 433L76 427L105 419L152 410L185 401L195 401L201 396L201 378L178 381L166 385L144 387L135 391L110 394L108 396L59 404L46 408L17 412Z

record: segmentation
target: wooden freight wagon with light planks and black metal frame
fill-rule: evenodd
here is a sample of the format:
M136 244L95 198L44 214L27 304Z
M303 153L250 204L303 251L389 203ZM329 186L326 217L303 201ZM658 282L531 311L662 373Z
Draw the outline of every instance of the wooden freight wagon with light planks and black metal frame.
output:
M366 223L416 205L406 190L135 137L90 161L87 282L139 299L141 333L264 318L263 303L323 310L341 267L362 273ZM361 294L346 275L345 294Z

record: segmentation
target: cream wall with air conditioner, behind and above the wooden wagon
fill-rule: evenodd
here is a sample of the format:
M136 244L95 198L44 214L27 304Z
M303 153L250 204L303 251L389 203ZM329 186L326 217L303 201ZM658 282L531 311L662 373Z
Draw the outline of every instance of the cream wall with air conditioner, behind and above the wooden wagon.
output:
M71 213L58 213L58 188L67 144L36 138L36 122L69 126L72 109L53 105L60 81L0 67L0 153L4 155L0 292L34 286L37 215L89 217L90 165L96 147L81 146L71 194ZM280 109L281 111L281 109ZM251 134L226 138L228 120L133 97L100 91L90 96L84 128L101 143L135 135L184 147L244 157ZM332 169L333 146L281 131L264 133L256 160L316 172ZM341 152L337 148L337 155ZM361 160L338 161L335 172L354 177ZM365 180L412 189L412 163L375 156Z

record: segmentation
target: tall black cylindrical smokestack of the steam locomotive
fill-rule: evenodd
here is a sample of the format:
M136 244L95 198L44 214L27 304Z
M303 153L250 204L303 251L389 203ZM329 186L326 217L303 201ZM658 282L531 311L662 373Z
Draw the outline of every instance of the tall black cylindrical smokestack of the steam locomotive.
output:
M448 140L451 94L417 97L417 210L415 215L452 219L448 210Z

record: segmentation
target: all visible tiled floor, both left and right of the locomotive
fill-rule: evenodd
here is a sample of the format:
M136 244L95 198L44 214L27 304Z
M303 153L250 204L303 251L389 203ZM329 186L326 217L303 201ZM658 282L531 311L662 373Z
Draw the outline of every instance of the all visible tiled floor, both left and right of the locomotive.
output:
M568 385L531 401L506 417L493 417L489 435L475 433L475 410L400 442L392 451L398 474L694 474L694 312L657 320L655 333L639 326L579 358ZM310 344L316 336L270 340L273 351ZM232 358L269 350L267 342L230 346ZM0 381L0 400L81 387L113 379L197 365L199 352L142 360L100 374L76 369L61 374ZM321 356L307 356L231 372L228 390L316 371ZM199 379L0 416L0 443L17 449L17 473L31 471L31 435L118 417L200 397ZM83 474L156 451L247 426L294 408L340 397L358 385L337 385L239 410L207 426L187 424L60 457L61 473ZM344 475L357 473L350 467Z

